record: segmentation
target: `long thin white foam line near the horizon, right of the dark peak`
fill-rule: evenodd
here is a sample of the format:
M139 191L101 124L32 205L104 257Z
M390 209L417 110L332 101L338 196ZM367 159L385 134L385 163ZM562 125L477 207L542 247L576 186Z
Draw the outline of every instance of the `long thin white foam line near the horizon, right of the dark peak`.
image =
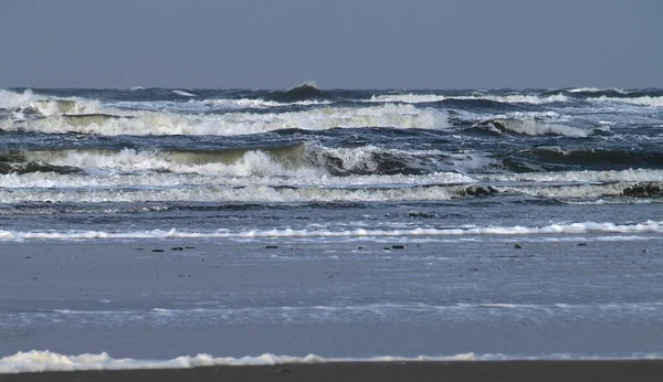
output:
M564 103L568 102L569 98L562 94L550 95L546 97L539 97L536 95L472 95L472 96L453 96L453 95L435 95L435 94L383 94L373 95L370 99L364 102L371 103L404 103L404 104L419 104L419 103L432 103L441 102L446 99L461 99L461 100L478 100L486 99L506 104L550 104L550 103Z

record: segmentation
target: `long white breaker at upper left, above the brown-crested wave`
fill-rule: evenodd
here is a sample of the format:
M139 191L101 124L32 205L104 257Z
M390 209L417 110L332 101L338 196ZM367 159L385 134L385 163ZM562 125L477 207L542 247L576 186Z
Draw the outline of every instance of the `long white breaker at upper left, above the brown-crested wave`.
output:
M134 116L115 116L90 125L72 125L55 116L12 123L0 120L4 131L43 134L117 135L219 135L233 136L282 129L324 130L335 127L394 127L438 129L449 127L444 112L411 105L386 104L371 107L316 108L287 113L228 113L223 115L177 115L144 112Z

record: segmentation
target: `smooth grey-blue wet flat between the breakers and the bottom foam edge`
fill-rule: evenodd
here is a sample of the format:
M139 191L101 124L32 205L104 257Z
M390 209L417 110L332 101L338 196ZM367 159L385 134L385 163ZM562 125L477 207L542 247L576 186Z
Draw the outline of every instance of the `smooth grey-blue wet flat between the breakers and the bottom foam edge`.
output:
M657 252L598 241L397 244L3 243L0 358L31 350L138 360L662 353Z

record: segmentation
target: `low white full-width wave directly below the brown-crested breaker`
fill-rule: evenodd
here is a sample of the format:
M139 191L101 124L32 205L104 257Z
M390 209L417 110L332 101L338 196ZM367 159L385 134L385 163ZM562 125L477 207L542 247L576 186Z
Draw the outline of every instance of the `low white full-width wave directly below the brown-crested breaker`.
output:
M236 171L236 169L232 169ZM263 176L273 169L257 168ZM288 170L277 169L277 172ZM302 173L303 170L290 170ZM308 174L313 177L313 174ZM177 184L157 188L81 188L70 189L0 189L0 203L144 203L144 202L225 202L225 203L333 203L333 202L399 202L448 201L453 199L517 194L555 200L597 200L600 198L661 199L663 182L613 182L599 184L358 184L318 185L206 183L192 187Z

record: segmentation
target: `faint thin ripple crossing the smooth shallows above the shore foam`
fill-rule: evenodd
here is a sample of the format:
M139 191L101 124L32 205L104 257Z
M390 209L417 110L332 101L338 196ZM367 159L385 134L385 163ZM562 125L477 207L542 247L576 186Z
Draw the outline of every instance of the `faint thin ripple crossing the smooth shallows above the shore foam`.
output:
M608 236L610 237L610 236ZM572 237L567 237L567 241ZM585 240L585 238L583 238ZM598 240L607 240L600 237ZM499 242L508 242L502 240ZM389 257L389 254L385 254ZM273 255L274 257L290 257L283 255ZM441 256L442 259L449 259ZM399 255L399 259L441 259L439 256L409 256ZM211 305L211 304L210 304ZM44 309L45 310L45 309ZM425 304L419 301L391 301L375 304L352 304L349 305L295 305L295 306L244 306L244 307L214 307L206 308L151 308L151 309L131 309L131 310L71 310L53 309L45 310L39 315L36 320L42 322L76 322L80 326L91 327L99 325L113 325L120 322L122 326L137 327L150 322L155 326L170 326L176 322L204 322L207 325L238 325L238 323L280 323L287 319L290 323L329 323L329 322L350 322L361 317L389 317L391 322L410 322L421 320L428 321L430 318L444 315L445 320L463 321L469 317L483 316L490 311L493 319L514 319L528 318L535 320L550 320L552 317L559 317L560 314L566 317L588 317L600 311L603 317L631 317L634 312L643 320L659 319L663 311L663 304L654 303L634 303L634 304L504 304L504 303L478 303L478 304ZM31 312L31 311L30 311ZM3 315L2 325L7 328L24 327L25 318L30 315L28 311L12 311ZM34 318L33 318L34 319ZM29 318L30 320L30 318ZM22 325L23 323L23 325ZM66 325L66 323L65 323Z

